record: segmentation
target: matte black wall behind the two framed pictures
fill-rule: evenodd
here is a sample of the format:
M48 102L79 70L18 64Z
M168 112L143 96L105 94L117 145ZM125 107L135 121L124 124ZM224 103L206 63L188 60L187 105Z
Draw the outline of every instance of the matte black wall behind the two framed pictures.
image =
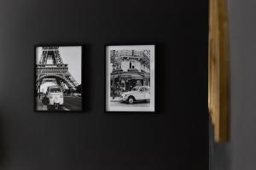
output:
M34 45L84 43L83 114L33 111ZM104 43L156 42L157 115L105 114ZM207 169L207 1L0 0L1 170Z

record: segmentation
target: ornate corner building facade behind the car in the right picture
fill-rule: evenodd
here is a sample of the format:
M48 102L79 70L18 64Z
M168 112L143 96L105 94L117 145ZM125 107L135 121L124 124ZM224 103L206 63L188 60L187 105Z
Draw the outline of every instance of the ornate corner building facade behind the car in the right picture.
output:
M149 50L111 50L110 57L112 96L134 87L150 86Z

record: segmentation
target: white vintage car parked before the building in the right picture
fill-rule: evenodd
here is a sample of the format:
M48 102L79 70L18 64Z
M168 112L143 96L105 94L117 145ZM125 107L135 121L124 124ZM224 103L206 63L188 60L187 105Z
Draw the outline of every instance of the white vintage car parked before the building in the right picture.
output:
M120 100L129 104L133 104L135 101L150 100L150 88L148 86L134 87L131 91L121 94Z

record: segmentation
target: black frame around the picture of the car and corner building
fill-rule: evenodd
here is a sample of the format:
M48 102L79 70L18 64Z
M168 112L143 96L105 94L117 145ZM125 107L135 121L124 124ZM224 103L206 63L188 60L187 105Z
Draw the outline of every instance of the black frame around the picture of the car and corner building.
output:
M107 48L109 46L154 46L154 111L108 111L107 110ZM156 77L157 77L157 43L156 42L137 42L137 43L119 43L119 42L108 42L104 44L104 112L107 114L153 114L155 115L157 113L157 92L156 92L156 87L157 87L157 83L156 83ZM151 72L150 72L151 74ZM150 87L151 89L151 87Z

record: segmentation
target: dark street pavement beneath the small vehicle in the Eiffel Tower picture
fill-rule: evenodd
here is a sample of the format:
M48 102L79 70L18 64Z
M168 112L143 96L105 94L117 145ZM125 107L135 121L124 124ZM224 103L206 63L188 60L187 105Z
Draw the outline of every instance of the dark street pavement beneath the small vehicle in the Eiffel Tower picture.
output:
M52 105L44 105L42 98L37 98L37 111L55 111ZM81 111L82 98L77 96L64 96L64 104L61 105L58 111Z

